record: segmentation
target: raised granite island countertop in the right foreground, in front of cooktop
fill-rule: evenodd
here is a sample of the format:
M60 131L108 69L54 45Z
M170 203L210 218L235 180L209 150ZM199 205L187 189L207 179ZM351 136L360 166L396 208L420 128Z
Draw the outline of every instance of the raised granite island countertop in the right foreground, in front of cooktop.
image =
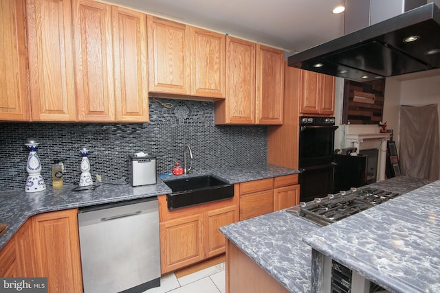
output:
M304 240L391 292L440 292L440 180Z

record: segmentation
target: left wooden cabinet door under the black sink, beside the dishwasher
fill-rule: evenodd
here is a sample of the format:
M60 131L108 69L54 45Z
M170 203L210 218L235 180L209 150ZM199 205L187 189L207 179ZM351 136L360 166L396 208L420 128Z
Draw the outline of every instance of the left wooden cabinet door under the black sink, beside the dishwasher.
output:
M203 259L203 214L160 223L162 274Z

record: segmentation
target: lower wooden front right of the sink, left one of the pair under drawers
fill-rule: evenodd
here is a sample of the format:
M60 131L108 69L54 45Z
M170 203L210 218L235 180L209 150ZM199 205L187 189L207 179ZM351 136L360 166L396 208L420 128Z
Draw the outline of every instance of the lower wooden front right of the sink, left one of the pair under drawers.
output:
M240 196L240 221L274 211L274 189Z

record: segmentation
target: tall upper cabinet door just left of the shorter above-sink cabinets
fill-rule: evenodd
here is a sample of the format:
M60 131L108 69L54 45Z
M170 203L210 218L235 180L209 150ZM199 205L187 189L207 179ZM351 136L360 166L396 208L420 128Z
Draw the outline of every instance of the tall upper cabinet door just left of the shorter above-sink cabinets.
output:
M116 120L148 122L146 14L113 6Z

